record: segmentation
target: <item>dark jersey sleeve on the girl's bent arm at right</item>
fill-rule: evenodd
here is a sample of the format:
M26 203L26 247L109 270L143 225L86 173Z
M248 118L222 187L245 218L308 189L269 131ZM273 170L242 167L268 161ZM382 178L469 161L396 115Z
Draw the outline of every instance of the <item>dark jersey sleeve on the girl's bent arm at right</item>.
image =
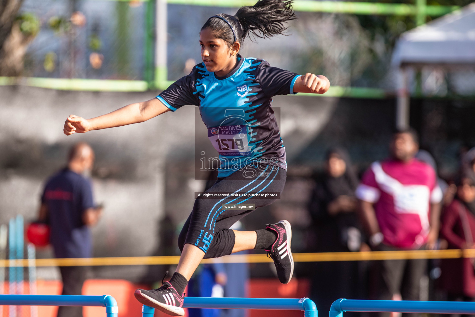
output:
M266 96L294 95L294 84L300 75L291 71L271 67L269 63L263 61L259 65L257 73L259 83Z

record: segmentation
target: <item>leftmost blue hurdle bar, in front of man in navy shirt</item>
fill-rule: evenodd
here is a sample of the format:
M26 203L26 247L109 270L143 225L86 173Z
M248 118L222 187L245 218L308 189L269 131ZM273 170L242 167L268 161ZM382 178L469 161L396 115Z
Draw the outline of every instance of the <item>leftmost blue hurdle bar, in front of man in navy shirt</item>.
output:
M17 306L102 306L107 317L117 317L119 307L110 295L0 295L0 305Z

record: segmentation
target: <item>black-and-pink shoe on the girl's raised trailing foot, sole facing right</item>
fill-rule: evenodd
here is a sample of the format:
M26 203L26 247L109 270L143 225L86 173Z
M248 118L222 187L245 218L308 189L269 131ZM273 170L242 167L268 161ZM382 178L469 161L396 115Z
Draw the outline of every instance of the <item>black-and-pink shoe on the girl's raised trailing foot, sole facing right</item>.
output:
M294 258L290 250L292 242L292 228L290 222L281 220L275 224L268 224L266 229L277 232L277 240L267 251L267 256L274 260L277 269L277 277L280 282L287 284L294 274Z

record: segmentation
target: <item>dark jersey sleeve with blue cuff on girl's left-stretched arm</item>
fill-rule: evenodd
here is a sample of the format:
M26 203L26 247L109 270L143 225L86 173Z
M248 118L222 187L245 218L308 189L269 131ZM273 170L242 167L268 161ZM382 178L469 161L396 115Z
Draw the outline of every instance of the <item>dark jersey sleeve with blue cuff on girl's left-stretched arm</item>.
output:
M193 68L190 75L181 77L170 87L161 92L157 96L165 106L171 111L175 111L181 106L194 105L199 106L199 98L193 94L195 90L195 72L196 67Z

